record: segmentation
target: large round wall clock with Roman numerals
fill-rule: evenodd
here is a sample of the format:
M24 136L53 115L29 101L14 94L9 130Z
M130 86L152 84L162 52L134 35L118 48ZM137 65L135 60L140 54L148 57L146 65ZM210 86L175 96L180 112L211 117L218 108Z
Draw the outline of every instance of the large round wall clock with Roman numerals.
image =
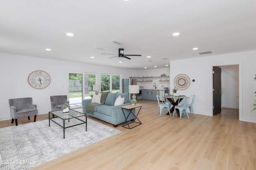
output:
M36 70L29 74L28 84L36 89L42 89L49 86L51 78L49 74L42 70Z

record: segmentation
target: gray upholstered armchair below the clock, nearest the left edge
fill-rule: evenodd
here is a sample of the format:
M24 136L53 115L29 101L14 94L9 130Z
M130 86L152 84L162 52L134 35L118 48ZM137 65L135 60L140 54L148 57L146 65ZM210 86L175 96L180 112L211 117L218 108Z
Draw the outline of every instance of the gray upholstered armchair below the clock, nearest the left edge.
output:
M28 117L28 120L30 120L30 116L34 115L34 122L36 121L38 110L36 109L36 104L32 104L32 98L9 99L9 105L12 123L15 119L16 126L18 126L18 118Z

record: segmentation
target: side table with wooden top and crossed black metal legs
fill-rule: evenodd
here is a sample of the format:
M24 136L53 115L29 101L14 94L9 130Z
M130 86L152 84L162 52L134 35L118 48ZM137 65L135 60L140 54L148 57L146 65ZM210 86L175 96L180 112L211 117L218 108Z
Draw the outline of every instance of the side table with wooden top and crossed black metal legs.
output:
M130 113L132 113L132 114L135 116L134 121L132 121L131 123L138 123L138 125L141 125L142 123L141 123L141 121L138 119L138 114L140 113L140 109L139 109L139 111L138 111L138 113L137 113L137 115L136 115L136 109L135 109L135 108L137 108L137 107L140 107L140 109L141 109L142 106L139 105L139 104L136 104L135 106L126 105L126 106L122 106L121 108L122 108L123 113L124 113L124 109L128 109L128 110L130 110ZM135 113L132 112L132 109L135 109ZM127 115L127 117L126 117L125 114L124 114L125 122L123 123L122 127L125 127L125 126L128 125L128 127L125 127L125 128L127 128L127 129L132 129L132 128L138 126L138 125L136 125L136 126L134 126L134 127L130 127L130 124L131 124L131 123L128 123L128 121L127 121L127 118L129 117L130 113ZM139 122L136 122L136 119L137 119Z

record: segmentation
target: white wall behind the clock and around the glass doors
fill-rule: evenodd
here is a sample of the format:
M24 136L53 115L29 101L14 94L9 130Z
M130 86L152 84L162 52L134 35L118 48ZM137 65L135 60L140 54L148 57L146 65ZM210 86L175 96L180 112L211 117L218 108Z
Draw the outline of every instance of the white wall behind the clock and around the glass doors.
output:
M1 112L0 120L11 119L8 100L11 98L32 97L37 104L38 114L50 111L50 96L68 95L68 72L92 72L118 74L129 78L138 70L114 68L84 63L72 63L20 55L0 53L1 72ZM28 75L34 70L44 70L50 74L51 82L47 88L35 89L28 84ZM100 80L97 82L100 84ZM122 87L122 84L121 84Z

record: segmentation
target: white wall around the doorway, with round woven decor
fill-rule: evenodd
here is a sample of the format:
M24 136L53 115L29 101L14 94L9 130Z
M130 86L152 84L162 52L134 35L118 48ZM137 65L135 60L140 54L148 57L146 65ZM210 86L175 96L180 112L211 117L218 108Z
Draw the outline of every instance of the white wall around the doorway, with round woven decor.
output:
M256 51L170 61L170 86L173 86L173 80L178 74L186 74L190 80L195 79L195 82L191 81L190 86L182 90L182 93L187 96L196 95L195 113L212 116L212 66L238 64L239 119L256 123L256 112L250 112L250 106L256 100L255 63Z

